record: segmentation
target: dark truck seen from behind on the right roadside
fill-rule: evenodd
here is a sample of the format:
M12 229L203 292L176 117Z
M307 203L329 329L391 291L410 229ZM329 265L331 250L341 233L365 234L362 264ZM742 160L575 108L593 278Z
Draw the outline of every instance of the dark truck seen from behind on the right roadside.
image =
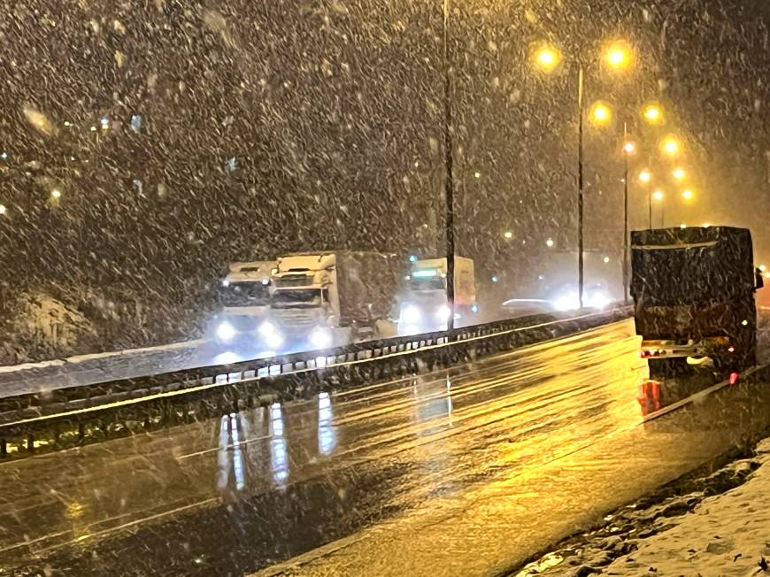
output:
M753 365L757 354L751 232L687 227L631 233L636 332L649 358Z

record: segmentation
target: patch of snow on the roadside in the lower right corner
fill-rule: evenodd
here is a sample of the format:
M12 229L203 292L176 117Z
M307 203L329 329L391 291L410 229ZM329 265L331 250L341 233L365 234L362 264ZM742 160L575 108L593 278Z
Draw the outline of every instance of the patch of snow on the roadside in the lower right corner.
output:
M770 574L770 439L757 446L759 468L748 481L706 497L637 550L602 569L607 575ZM598 572L597 572L598 573Z

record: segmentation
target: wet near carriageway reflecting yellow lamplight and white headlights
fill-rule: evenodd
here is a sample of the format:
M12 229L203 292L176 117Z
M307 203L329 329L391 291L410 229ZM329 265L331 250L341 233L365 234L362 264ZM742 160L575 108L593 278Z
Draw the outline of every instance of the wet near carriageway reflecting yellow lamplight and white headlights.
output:
M4 463L0 573L504 572L767 426L758 386L645 423L638 346L627 321Z

